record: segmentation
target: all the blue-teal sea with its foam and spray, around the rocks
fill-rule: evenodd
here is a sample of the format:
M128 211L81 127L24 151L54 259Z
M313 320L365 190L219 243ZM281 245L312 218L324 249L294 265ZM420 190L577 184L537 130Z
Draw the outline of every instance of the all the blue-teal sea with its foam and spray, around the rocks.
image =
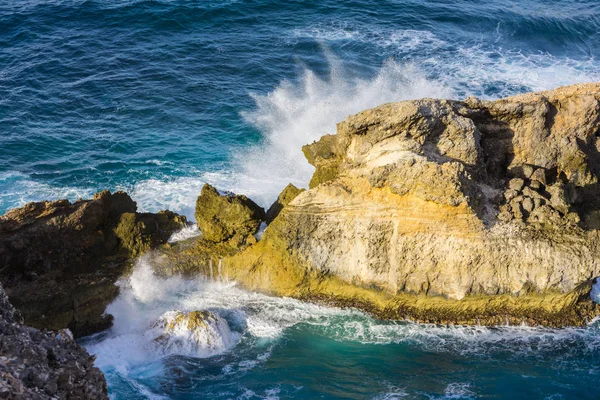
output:
M0 214L108 188L192 216L205 182L268 206L349 114L600 81L599 56L598 0L0 0ZM151 262L84 341L114 399L600 398L598 323L381 322ZM154 318L196 308L220 347L152 348Z

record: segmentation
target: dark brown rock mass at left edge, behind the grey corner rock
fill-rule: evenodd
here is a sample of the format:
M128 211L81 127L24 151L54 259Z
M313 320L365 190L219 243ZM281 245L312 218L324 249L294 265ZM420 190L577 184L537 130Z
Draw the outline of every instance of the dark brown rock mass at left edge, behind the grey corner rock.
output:
M0 216L0 281L28 325L90 334L110 326L104 310L131 258L185 224L171 212L136 213L123 192L29 203Z

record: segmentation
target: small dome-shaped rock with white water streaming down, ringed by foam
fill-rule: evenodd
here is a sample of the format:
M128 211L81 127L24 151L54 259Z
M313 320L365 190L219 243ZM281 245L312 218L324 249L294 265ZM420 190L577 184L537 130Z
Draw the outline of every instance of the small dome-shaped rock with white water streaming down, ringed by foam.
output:
M235 343L227 321L209 311L168 311L153 328L160 332L154 342L166 354L209 356Z

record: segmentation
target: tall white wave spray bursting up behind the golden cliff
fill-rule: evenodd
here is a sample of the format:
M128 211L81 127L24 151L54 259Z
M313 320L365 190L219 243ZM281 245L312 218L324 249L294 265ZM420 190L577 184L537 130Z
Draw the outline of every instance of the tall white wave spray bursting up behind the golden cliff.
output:
M283 81L267 95L253 95L256 108L244 118L263 132L263 143L234 154L233 173L206 174L206 181L270 205L289 183L306 187L314 168L302 146L325 134L351 114L383 103L421 97L451 97L452 90L427 79L412 64L388 60L371 79L353 76L325 51L329 74L305 69L298 82Z

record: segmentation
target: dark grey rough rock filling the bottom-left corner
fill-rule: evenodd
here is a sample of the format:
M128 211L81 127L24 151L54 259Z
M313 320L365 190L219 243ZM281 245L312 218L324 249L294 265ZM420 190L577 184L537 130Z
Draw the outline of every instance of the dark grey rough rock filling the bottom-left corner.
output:
M69 331L21 322L0 286L0 398L108 399L102 372Z

